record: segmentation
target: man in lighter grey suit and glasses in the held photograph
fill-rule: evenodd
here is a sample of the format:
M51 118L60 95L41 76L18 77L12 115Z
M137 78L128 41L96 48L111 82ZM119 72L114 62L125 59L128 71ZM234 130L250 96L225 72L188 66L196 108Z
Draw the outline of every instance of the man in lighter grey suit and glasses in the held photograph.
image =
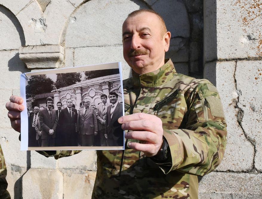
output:
M84 99L81 109L78 111L77 131L80 135L81 146L93 146L94 136L97 135L97 120L95 109L89 107L90 100Z

